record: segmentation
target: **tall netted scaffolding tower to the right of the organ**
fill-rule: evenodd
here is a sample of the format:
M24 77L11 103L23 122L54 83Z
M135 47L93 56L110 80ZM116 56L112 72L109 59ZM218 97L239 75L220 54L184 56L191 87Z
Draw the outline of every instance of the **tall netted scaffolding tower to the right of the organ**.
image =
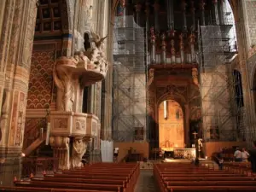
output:
M236 37L232 37L232 31L234 24L228 22L200 26L201 115L205 141L237 141L245 137L241 75L232 67L236 61Z

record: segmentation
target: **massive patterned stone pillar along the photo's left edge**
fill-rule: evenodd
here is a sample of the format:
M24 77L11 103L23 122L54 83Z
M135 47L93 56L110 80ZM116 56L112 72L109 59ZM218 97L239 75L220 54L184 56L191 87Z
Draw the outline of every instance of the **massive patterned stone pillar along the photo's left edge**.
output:
M0 180L12 184L13 177L20 174L37 1L9 0L1 5L0 17L4 22L0 33L0 159L4 163Z

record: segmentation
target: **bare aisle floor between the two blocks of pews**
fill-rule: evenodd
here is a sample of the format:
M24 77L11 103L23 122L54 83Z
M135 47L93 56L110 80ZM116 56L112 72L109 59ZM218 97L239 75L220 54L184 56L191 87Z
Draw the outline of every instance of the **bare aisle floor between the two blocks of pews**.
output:
M154 183L153 170L141 170L134 192L158 192Z

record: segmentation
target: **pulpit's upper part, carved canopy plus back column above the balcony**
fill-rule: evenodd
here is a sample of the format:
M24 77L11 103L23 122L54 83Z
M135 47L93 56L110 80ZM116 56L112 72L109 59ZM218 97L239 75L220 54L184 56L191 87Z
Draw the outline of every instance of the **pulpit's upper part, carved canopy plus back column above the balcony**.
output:
M54 67L54 81L57 86L57 110L78 111L74 101L81 101L80 90L84 86L102 80L108 71L108 61L103 51L104 39L92 33L92 46L71 57L61 57Z

